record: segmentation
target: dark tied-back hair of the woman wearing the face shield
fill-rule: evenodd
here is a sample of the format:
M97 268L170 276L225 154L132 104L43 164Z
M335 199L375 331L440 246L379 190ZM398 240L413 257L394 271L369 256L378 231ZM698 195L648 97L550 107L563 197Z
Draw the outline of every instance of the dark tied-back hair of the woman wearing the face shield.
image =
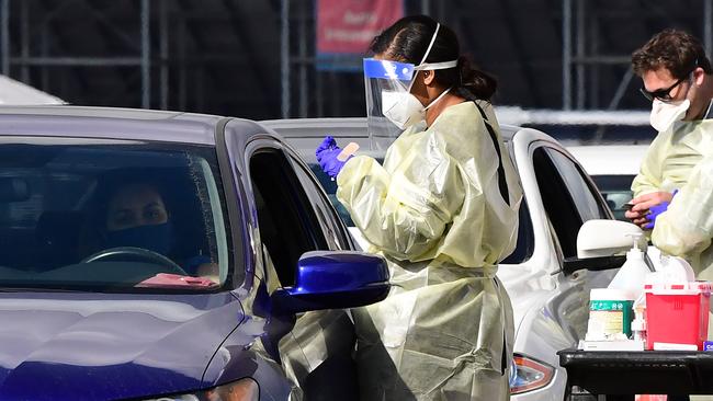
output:
M426 15L405 16L374 37L370 50L395 61L419 65L435 32L435 26L437 22ZM455 68L434 70L435 80L446 87L453 87L452 91L461 98L469 101L478 99L489 101L497 89L497 81L473 67L467 58L461 55L455 33L441 24L426 62L456 59L459 64Z

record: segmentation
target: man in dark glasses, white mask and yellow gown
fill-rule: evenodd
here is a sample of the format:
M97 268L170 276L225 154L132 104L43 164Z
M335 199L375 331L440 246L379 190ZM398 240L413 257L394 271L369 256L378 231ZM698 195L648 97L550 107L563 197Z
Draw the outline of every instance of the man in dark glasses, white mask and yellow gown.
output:
M642 77L652 126L659 133L632 184L635 206L626 217L652 230L661 251L687 259L699 279L713 279L713 232L703 229L713 208L703 196L713 170L710 163L699 165L713 156L711 62L695 37L666 30L633 54L632 67Z

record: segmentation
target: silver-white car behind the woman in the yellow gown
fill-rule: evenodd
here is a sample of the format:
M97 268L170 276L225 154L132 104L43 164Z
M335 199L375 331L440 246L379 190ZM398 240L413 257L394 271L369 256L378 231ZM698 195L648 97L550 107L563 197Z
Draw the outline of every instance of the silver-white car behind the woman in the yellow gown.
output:
M355 141L370 149L363 118L262 123L284 136L310 163L332 199L336 184L316 164L316 146L331 135L341 146ZM555 139L516 126L502 126L501 133L524 190L518 245L498 270L514 310L517 374L511 378L512 399L563 400L567 378L556 353L576 346L584 337L589 289L604 287L615 273L599 271L609 267L596 265L601 261L576 259L577 233L587 220L613 216L581 165ZM343 207L333 200L351 224Z

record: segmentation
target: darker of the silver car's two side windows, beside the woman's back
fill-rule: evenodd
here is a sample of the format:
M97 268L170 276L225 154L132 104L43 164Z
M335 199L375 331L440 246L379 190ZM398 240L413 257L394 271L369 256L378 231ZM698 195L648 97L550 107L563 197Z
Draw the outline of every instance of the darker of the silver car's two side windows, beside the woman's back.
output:
M558 153L558 152L557 152ZM558 153L562 154L562 153ZM556 157L556 154L554 154ZM562 253L565 257L577 255L577 233L579 227L586 221L580 215L577 202L578 197L573 196L570 190L580 190L580 185L568 188L570 182L575 181L573 176L565 179L561 173L564 161L555 162L548 149L539 147L532 154L534 172L540 187L540 196L547 214L547 218L554 229L555 236L559 242ZM587 196L586 194L584 195ZM582 208L587 210L589 207ZM588 217L588 216L587 216ZM589 219L591 217L588 217Z

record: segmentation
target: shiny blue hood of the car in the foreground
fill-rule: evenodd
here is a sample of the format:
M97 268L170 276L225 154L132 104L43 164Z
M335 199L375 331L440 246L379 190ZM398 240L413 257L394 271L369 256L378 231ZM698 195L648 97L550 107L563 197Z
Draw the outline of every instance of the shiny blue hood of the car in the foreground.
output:
M229 293L0 294L0 399L121 399L195 390L244 318Z

